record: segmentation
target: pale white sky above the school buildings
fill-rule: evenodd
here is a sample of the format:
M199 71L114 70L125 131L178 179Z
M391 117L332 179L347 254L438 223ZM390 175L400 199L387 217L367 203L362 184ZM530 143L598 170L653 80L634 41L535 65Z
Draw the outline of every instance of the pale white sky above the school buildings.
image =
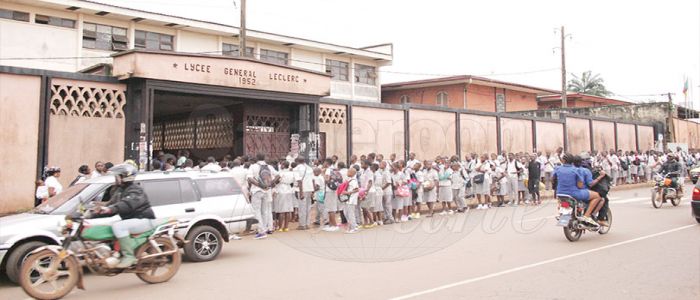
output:
M99 2L239 25L234 0ZM249 29L351 47L393 43L383 83L469 74L561 89L565 26L567 73L598 73L622 100L666 101L671 92L678 104L688 78L700 109L697 0L248 0L247 10Z

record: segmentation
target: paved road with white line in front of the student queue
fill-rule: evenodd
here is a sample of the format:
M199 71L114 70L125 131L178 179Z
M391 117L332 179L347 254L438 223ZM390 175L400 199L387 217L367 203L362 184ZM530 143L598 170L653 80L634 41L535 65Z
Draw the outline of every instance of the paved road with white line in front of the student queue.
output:
M576 243L555 226L553 203L472 210L354 235L246 237L170 282L88 276L88 290L67 298L700 299L700 225L688 200L657 210L648 195L614 191L611 232ZM0 298L26 296L3 279Z

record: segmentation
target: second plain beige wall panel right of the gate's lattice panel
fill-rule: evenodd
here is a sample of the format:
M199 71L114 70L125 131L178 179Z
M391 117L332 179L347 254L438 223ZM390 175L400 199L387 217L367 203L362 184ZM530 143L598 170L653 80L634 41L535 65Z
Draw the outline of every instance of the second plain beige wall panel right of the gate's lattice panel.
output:
M457 154L454 113L412 109L408 116L409 151L416 153L419 160Z

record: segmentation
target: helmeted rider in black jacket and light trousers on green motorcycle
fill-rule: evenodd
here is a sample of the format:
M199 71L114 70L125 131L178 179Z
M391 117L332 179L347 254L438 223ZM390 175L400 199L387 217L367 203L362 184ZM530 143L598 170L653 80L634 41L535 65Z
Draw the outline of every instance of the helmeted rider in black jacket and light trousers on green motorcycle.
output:
M111 199L99 208L100 216L119 215L120 221L112 224L114 236L119 240L122 258L115 268L128 268L137 261L134 250L138 246L131 238L155 228L155 214L151 209L146 193L141 186L134 184L136 167L130 163L116 165L109 169L114 174L114 186L110 190Z

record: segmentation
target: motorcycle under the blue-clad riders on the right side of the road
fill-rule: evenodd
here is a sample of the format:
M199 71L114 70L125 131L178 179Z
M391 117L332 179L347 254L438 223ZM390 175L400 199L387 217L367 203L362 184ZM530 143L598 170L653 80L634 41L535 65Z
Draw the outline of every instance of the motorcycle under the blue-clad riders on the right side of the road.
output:
M559 216L557 226L564 228L564 236L570 242L578 241L586 231L606 234L612 226L612 210L608 207L606 211L607 226L593 226L583 221L583 214L586 211L586 203L577 201L569 195L557 195L559 200ZM596 216L594 216L595 219Z

